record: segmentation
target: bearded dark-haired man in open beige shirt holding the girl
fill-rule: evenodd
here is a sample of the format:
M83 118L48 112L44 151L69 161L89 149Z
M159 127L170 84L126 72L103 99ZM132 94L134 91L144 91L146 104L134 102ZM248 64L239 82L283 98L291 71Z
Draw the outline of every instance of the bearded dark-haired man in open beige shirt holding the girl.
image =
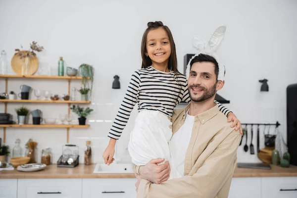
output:
M137 198L228 198L241 134L231 128L214 97L224 86L215 58L202 54L190 63L190 104L175 110L170 141L172 160L182 178L169 178L168 162L153 159L134 166ZM159 184L160 183L160 184Z

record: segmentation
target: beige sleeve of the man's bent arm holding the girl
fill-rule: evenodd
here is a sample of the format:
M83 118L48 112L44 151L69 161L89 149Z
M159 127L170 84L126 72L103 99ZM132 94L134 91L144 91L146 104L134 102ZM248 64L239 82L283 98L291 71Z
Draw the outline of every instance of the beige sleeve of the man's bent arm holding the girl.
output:
M233 175L241 135L231 132L193 176L152 184L142 180L137 198L214 198Z

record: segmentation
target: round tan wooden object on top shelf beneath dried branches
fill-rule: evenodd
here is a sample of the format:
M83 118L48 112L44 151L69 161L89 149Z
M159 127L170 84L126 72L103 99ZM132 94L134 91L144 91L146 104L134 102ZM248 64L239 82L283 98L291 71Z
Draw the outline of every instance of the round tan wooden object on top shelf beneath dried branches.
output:
M22 73L22 67L25 64L25 61L28 61L28 69L27 69L27 74L26 75L33 75L36 73L36 71L38 70L38 58L35 56L32 57L27 57L28 59L26 60L26 58L22 58L20 57L20 53L28 53L28 51L18 51L17 53L14 54L14 56L11 59L11 68L12 70L18 74L18 75L23 75Z

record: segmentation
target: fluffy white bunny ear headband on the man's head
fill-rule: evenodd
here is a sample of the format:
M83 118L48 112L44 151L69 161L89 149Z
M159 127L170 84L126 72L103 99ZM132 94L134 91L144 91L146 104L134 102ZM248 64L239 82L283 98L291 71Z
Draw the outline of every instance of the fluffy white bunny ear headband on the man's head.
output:
M225 66L219 61L217 54L215 53L220 44L222 43L222 40L224 38L226 32L226 26L222 25L219 26L214 33L212 34L209 42L207 43L205 40L200 39L197 35L194 36L193 38L193 46L195 49L198 50L198 52L190 59L188 65L187 65L187 70L186 70L186 76L187 79L189 78L190 74L190 63L192 59L195 56L198 56L200 53L211 55L216 59L216 61L219 64L219 75L218 75L218 80L224 80L225 76Z

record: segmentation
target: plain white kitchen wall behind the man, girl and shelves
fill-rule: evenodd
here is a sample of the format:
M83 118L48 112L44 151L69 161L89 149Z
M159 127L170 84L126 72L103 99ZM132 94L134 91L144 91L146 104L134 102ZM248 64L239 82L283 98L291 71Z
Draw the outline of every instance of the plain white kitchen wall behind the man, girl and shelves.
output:
M90 122L89 129L71 129L70 143L79 145L83 155L85 141L92 140L95 161L101 162L112 124L110 120L114 119L132 72L141 65L140 45L147 22L161 20L169 26L177 47L180 71L184 55L195 53L193 35L208 39L219 24L226 24L225 40L218 52L227 68L226 84L219 94L231 100L227 106L242 122L274 123L278 120L286 138L286 87L296 83L297 74L296 7L294 0L183 0L174 3L172 0L0 0L0 50L7 51L10 62L15 48L20 45L29 48L29 43L37 41L45 48L38 53L41 65L56 68L59 56L72 67L81 63L94 65L91 107L95 112L89 119L104 121ZM14 74L11 68L9 73ZM120 76L120 90L111 89L114 75ZM258 80L263 78L269 80L268 93L259 91ZM66 81L33 79L9 81L9 91L19 92L20 84L57 94L67 93ZM0 80L0 85L0 92L3 92L4 80ZM74 85L79 88L80 82ZM21 104L8 104L8 112L14 117L18 106ZM27 106L41 109L44 117L58 118L60 113L67 113L64 104ZM3 110L2 104L0 111ZM126 147L136 113L134 110L119 142L119 153ZM53 148L56 161L66 143L66 130L7 129L6 142L10 147L16 138L21 139L22 146L29 138L36 140L39 160L42 148ZM253 143L256 144L255 135ZM243 152L242 147L238 158L242 162L258 161L256 155Z

